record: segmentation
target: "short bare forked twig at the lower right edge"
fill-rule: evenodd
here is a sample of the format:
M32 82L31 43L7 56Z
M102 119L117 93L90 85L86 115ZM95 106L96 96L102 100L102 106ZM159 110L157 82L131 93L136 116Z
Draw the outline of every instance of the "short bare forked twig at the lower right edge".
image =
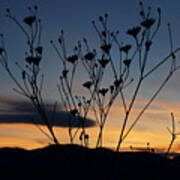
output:
M169 152L170 152L170 150L171 150L177 136L180 135L180 132L176 132L175 119L174 119L174 114L173 113L171 113L171 120L172 120L172 129L170 130L167 127L168 132L171 134L171 141L170 141L170 144L168 146L166 156L168 156L168 154L169 154Z

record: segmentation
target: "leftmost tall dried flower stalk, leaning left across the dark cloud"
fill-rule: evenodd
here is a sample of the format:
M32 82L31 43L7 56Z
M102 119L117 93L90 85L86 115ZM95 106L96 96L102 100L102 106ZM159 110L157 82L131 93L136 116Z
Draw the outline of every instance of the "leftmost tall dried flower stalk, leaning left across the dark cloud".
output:
M5 50L4 38L1 35L1 46L2 50L0 53L0 62L4 69L9 74L10 78L14 81L17 88L15 92L25 96L33 104L36 111L39 113L41 121L46 125L49 134L43 131L37 123L35 125L41 130L50 140L58 144L58 140L53 131L53 121L48 119L46 114L46 108L42 97L42 89L44 84L44 76L40 76L40 62L42 59L43 47L41 46L41 20L37 17L37 6L34 8L29 7L30 16L24 18L23 23L20 23L15 16L12 15L11 11L7 9L7 17L11 19L23 32L27 40L27 51L25 53L25 66L21 63L16 62L17 68L21 72L22 81L20 81L9 67L8 55ZM26 27L27 26L27 27ZM40 80L39 80L40 79ZM54 112L55 113L55 112Z

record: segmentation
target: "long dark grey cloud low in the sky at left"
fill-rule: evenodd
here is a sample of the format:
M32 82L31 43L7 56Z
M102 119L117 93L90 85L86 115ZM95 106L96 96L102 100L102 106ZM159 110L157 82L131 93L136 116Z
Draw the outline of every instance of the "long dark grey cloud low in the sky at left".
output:
M46 112L49 119L52 118L53 105L47 104ZM62 111L61 107L57 108L55 113L54 126L68 127L69 118L72 119L71 126L79 127L82 120L81 117L72 117L70 113ZM39 125L44 125L40 121L38 113L36 113L32 104L23 100L13 100L11 98L0 97L0 123L27 123L34 124L36 122ZM85 120L85 127L95 126L95 122L91 119Z

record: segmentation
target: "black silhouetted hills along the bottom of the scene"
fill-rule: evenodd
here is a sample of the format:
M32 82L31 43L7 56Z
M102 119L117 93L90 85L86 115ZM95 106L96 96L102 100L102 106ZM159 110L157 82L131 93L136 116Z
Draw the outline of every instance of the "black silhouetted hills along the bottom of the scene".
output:
M31 175L52 173L57 179L163 179L180 176L180 160L169 160L147 152L115 153L77 145L51 145L27 151L0 149L0 170L29 171Z

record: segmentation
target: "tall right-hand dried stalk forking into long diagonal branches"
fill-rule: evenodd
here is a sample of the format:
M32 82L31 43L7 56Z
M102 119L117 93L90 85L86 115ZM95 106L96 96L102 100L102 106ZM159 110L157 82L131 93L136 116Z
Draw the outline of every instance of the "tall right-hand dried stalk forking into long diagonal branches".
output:
M127 31L127 34L132 36L135 39L135 44L136 44L136 51L135 54L138 56L138 62L139 62L139 77L137 78L137 84L134 89L134 92L132 93L132 98L130 100L129 105L127 106L126 104L126 99L124 97L124 91L121 92L121 99L123 101L123 106L124 106L124 111L125 111L125 116L124 116L124 121L122 124L120 136L119 136L119 141L117 145L117 151L119 151L120 146L122 142L125 140L125 138L129 135L131 130L134 128L134 126L137 124L137 122L140 120L144 112L148 109L148 107L151 105L151 103L154 101L154 99L157 97L157 95L161 92L161 90L164 88L164 86L167 84L169 79L172 77L174 72L180 68L180 66L176 65L176 59L175 59L175 54L180 50L180 48L173 50L173 39L171 35L171 28L169 26L169 38L170 38L170 54L167 55L164 59L162 59L159 63L155 64L152 69L146 70L147 62L148 62L148 56L151 50L151 46L153 45L153 39L156 36L159 27L160 27L160 22L161 22L161 10L158 8L158 22L157 25L155 26L156 20L151 16L151 8L148 8L148 12L146 13L142 2L140 3L141 6L141 12L140 15L142 17L142 33L141 33L141 38L137 38L137 35L135 33L138 32L140 33L140 30L137 30L136 28L130 29ZM153 29L153 26L154 29ZM136 32L135 32L136 30ZM133 32L133 33L132 33ZM117 42L117 40L116 40ZM117 43L119 46L119 43ZM173 60L172 60L172 59ZM140 113L137 115L137 117L134 119L132 124L127 128L127 122L129 121L129 116L131 114L131 111L134 107L134 104L136 102L137 96L139 94L140 88L144 82L144 80L153 72L157 71L163 64L165 64L168 60L171 60L170 62L170 69L169 72L167 73L164 81L161 82L160 86L157 88L157 90L152 94L151 97L149 97L149 100L147 103L144 105L144 107L141 109ZM123 95L123 96L122 96Z

